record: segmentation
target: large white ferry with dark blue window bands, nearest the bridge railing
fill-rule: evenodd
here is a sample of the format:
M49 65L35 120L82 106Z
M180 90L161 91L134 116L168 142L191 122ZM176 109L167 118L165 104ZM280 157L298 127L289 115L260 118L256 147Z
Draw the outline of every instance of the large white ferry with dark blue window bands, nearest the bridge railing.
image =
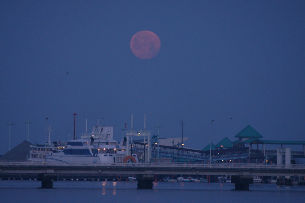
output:
M64 149L48 153L46 161L65 163L121 162L122 158L126 156L125 146L122 143L119 145L116 140L113 140L113 126L94 126L91 134L83 134L82 139L67 142ZM131 156L131 161L138 161L136 154Z

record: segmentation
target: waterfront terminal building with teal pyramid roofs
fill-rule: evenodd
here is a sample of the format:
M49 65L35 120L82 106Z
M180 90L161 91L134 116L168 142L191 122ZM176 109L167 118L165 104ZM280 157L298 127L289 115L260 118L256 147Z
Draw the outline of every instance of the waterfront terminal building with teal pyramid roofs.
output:
M302 146L302 151L291 150L292 160L296 158L294 163L300 163L302 159L305 160L305 141L263 140L263 136L250 125L247 125L234 137L238 140L231 142L225 137L215 145L215 150L212 150L212 162L276 164L278 151L276 148L291 145ZM270 149L271 146L273 149ZM209 147L210 145L203 150Z

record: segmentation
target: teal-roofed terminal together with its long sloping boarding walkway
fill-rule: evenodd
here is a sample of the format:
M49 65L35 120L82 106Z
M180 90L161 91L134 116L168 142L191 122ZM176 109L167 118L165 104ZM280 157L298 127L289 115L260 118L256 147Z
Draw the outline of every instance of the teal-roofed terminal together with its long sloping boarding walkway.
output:
M237 140L231 141L224 137L216 145L211 143L211 147L209 144L203 150L185 148L181 145L182 142L177 141L179 138L152 140L150 161L277 164L279 151L281 160L285 160L286 153L282 151L287 148L291 152L291 164L305 164L305 141L264 140L250 125L237 133L235 138ZM138 141L133 143L131 148L141 157L145 154L145 145L147 146L147 143ZM291 146L301 146L298 148L302 150L291 150Z

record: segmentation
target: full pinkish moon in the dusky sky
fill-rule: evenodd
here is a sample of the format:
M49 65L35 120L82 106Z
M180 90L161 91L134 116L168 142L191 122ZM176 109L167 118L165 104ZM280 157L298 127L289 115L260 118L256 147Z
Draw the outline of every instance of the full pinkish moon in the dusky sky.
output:
M130 49L140 59L151 59L159 53L160 38L151 31L143 30L132 36Z

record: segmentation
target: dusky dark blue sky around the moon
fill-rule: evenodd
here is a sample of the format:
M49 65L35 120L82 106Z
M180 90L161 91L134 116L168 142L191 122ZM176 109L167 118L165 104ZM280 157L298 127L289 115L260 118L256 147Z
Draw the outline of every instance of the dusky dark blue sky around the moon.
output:
M77 135L104 118L203 149L251 125L263 140L304 140L304 1L0 2L0 154L27 139ZM138 31L161 40L143 60ZM66 74L66 71L69 74ZM233 118L233 120L229 119Z

